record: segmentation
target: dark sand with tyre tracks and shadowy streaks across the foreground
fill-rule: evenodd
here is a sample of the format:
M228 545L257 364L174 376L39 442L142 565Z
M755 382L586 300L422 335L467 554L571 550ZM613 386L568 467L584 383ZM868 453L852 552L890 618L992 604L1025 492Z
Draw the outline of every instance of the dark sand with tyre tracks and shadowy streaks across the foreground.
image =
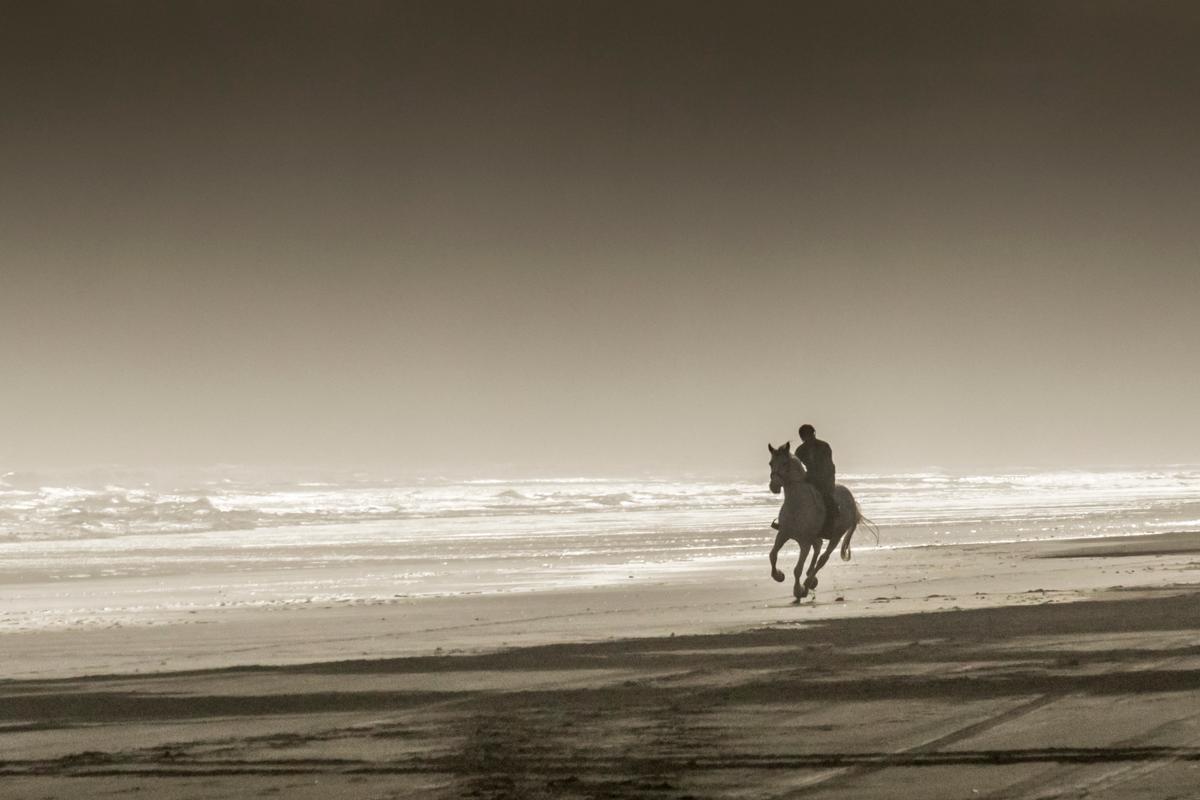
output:
M1120 588L1093 588L1122 549ZM10 680L0 795L1200 798L1200 535L1006 552L998 579L1056 564L1081 589L919 610L926 588L901 585L906 613L772 608L714 634Z

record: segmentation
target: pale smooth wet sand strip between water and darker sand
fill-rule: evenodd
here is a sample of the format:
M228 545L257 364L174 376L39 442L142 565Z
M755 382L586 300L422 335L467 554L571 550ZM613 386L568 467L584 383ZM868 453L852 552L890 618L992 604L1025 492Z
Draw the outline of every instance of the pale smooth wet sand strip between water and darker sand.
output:
M1200 533L1175 531L864 549L850 563L832 560L821 572L816 600L800 606L791 603L791 575L784 584L769 579L764 548L760 565L739 559L590 589L209 609L160 625L6 632L0 634L7 655L2 678L481 652L604 642L618 633L724 633L887 613L1064 602L1127 587L1134 582L1129 575L1148 587L1200 581L1194 567L1151 569L1165 551L1186 559L1196 542ZM1114 558L1112 548L1126 558ZM1091 553L1104 558L1087 569L1067 558ZM794 545L781 554L785 572L796 555Z

